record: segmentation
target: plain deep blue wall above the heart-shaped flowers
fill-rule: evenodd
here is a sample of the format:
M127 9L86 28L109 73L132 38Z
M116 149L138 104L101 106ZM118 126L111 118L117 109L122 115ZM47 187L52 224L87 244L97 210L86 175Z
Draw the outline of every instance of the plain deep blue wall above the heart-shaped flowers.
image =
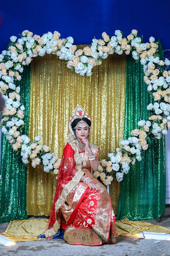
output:
M25 29L39 35L57 30L62 38L71 35L75 44L90 44L103 31L114 35L120 29L127 36L137 29L144 42L153 36L170 49L170 0L6 0L0 4L0 20L0 52L11 35Z

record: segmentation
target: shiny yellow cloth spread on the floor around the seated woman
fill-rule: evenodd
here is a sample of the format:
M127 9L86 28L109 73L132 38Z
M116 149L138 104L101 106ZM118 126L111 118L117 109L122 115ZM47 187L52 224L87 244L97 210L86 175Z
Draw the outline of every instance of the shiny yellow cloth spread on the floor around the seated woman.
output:
M33 241L42 240L39 234L44 234L47 226L47 219L24 219L11 221L3 236L13 241ZM170 233L170 229L153 225L148 222L130 221L128 218L116 221L117 236L139 237L141 231Z

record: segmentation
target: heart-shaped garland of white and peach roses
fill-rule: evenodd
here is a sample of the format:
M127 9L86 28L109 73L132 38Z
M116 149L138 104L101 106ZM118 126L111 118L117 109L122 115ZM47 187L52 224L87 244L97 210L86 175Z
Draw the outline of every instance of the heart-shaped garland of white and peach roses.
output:
M113 176L116 176L117 181L122 181L123 174L130 169L130 163L134 165L136 159L141 160L141 150L148 148L147 137L160 139L162 134L167 134L167 129L170 128L170 61L167 58L165 61L159 59L158 44L154 43L153 37L149 38L149 43L143 43L135 29L127 39L120 30L116 30L112 37L103 32L102 39L93 39L91 47L83 49L77 49L73 45L72 37L60 39L57 31L40 37L24 30L21 38L17 40L17 37L12 36L10 40L7 50L0 54L0 92L5 100L1 126L13 150L20 152L23 163L27 164L30 158L33 168L43 164L45 172L51 170L57 174L61 161L54 153L50 153L47 145L39 145L40 137L35 137L35 141L30 142L30 138L23 134L24 106L20 103L20 87L15 85L15 81L21 80L23 66L29 65L33 57L44 56L46 53L66 60L68 68L87 76L92 74L94 66L100 65L102 59L114 52L119 55L123 51L127 55L132 52L133 58L136 61L140 59L143 65L144 81L155 101L147 106L152 115L149 120L138 122L140 128L131 132L132 137L119 142L122 148L116 148L114 153L108 154L108 159L100 161L94 176L100 177L105 185L111 184Z

